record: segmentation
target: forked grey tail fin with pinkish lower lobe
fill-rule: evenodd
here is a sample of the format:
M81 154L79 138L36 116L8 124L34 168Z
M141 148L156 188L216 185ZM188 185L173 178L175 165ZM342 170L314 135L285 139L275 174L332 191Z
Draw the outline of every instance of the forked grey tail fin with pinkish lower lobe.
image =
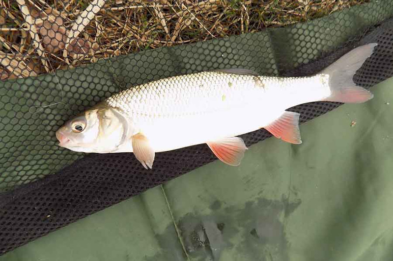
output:
M353 76L365 60L370 57L377 44L367 44L357 47L339 58L321 73L329 74L331 95L323 101L344 103L361 103L373 97L365 88L356 85Z

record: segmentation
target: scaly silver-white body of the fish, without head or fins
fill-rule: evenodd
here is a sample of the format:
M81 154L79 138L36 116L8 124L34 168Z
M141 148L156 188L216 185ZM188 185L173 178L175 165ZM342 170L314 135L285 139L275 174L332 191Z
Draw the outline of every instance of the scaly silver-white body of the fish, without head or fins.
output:
M134 134L142 132L160 152L262 128L289 107L328 96L321 79L202 72L127 90L109 104L128 113ZM132 151L131 144L120 150Z

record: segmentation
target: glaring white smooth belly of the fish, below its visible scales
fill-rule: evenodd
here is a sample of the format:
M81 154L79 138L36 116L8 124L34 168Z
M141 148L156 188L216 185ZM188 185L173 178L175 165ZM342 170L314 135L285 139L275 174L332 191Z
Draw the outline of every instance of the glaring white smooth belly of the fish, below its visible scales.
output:
M154 151L167 151L252 132L279 118L282 111L262 114L260 107L248 106L206 116L156 120L143 133Z

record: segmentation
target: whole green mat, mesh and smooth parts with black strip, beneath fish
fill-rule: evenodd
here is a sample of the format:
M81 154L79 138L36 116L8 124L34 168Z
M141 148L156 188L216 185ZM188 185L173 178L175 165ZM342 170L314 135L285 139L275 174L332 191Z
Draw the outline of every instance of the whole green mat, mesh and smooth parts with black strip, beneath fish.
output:
M369 87L392 76L392 22L373 28L392 14L391 1L372 2L305 24L57 71L57 78L1 82L0 184L9 190L0 197L1 252L213 161L201 145L157 155L150 172L132 155L118 154L87 156L48 175L82 156L56 147L54 130L99 97L127 82L215 68L305 75L357 45L377 41L376 54L355 77ZM29 110L59 101L59 85L67 106ZM240 167L209 163L2 258L373 260L379 255L388 260L383 257L390 257L391 245L391 91L386 86L371 91L375 96L366 104L344 105L303 124L300 146L259 142ZM337 105L293 110L304 122ZM268 136L261 130L243 137L250 145Z

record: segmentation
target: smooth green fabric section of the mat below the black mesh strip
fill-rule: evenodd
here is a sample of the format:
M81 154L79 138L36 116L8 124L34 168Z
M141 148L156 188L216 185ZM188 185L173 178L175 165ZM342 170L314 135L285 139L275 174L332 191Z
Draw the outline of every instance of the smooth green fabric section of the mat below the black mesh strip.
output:
M0 261L391 261L392 87L302 124L301 146L258 142Z

